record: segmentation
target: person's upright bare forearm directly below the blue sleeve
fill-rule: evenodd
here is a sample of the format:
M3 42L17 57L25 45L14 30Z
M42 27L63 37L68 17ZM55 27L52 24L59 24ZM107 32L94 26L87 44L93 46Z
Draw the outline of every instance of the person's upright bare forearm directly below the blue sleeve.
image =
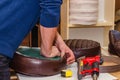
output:
M46 57L51 57L53 42L56 38L57 27L46 28L40 25L41 32L41 52Z

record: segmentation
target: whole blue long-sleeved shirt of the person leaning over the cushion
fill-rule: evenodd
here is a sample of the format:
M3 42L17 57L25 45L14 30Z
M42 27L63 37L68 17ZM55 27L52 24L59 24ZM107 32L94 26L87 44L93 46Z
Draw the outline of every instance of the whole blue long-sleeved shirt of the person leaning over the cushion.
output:
M62 0L0 0L0 54L13 57L36 22L56 27Z

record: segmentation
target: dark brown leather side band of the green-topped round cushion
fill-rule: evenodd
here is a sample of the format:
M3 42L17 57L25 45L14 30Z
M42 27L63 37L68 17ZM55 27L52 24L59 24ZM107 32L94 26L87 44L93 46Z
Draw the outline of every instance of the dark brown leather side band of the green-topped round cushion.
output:
M15 53L11 67L19 73L31 76L51 76L66 67L66 58L60 60L45 60Z

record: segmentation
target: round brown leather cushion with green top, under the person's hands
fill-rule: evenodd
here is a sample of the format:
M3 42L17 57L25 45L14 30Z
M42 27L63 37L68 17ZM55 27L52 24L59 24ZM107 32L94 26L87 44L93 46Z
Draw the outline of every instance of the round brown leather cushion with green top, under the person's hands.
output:
M38 48L19 48L11 67L19 73L34 76L50 76L59 73L66 66L66 58L46 58Z

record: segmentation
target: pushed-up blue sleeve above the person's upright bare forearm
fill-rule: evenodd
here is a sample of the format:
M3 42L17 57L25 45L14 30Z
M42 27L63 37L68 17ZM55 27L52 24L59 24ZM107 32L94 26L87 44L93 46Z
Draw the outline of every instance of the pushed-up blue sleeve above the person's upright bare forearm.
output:
M62 0L42 0L40 2L40 24L44 27L56 27L60 21Z

